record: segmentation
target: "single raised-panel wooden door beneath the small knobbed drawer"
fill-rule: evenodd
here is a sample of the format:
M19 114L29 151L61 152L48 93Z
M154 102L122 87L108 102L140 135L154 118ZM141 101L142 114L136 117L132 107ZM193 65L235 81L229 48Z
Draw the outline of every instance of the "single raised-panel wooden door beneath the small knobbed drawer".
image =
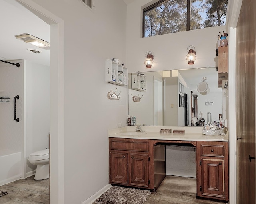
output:
M224 160L201 158L202 165L202 196L225 198Z

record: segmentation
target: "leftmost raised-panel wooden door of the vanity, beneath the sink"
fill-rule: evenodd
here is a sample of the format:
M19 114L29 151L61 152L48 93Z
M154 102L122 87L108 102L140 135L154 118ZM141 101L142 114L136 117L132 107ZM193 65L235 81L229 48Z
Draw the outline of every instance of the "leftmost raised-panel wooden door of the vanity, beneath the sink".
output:
M128 154L110 152L110 183L128 184Z

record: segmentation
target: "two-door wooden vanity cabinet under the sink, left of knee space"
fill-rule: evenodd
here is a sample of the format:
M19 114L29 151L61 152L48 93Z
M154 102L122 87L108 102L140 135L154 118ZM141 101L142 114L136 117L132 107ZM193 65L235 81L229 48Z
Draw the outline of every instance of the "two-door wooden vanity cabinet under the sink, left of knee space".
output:
M149 188L147 139L109 138L109 183Z

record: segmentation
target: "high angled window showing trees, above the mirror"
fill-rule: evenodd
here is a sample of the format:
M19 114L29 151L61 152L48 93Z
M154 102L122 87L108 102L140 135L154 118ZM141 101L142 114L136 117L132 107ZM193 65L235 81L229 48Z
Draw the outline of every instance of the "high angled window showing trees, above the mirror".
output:
M228 0L160 0L143 10L143 37L225 25Z

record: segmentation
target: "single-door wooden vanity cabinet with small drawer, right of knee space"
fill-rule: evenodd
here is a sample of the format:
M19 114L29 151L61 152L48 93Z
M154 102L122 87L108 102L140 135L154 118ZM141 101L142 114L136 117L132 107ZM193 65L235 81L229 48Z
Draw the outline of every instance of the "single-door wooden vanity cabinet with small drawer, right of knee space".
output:
M228 201L228 142L196 142L197 196Z

